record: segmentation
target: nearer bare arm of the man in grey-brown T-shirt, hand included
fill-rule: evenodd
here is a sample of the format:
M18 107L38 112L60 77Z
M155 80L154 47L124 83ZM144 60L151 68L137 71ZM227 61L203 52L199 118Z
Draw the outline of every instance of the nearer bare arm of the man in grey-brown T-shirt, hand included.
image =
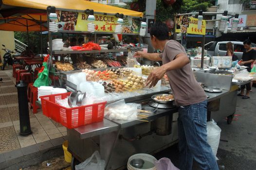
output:
M188 63L189 59L187 55L185 53L179 53L171 62L166 63L160 68L151 71L151 73L147 77L146 85L150 84L149 88L152 86L154 87L157 84L157 82L164 77L166 71L183 68Z

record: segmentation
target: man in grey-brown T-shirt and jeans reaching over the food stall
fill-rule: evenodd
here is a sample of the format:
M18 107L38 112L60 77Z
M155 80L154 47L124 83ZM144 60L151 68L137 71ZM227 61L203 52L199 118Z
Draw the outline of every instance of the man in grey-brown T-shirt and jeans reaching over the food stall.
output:
M212 149L207 143L206 95L193 75L185 49L177 41L168 40L168 28L163 23L155 23L150 29L150 35L152 46L163 53L138 51L135 55L163 61L163 66L150 73L146 85L155 86L165 73L168 76L175 103L179 106L179 168L192 170L195 159L202 170L219 170Z

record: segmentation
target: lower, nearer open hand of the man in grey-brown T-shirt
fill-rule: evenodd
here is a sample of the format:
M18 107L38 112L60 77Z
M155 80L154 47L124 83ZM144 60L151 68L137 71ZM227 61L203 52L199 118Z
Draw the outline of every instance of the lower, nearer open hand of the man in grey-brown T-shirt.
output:
M146 86L150 84L149 88L154 87L157 82L164 77L165 72L166 70L164 67L156 68L151 71L151 73L147 77Z

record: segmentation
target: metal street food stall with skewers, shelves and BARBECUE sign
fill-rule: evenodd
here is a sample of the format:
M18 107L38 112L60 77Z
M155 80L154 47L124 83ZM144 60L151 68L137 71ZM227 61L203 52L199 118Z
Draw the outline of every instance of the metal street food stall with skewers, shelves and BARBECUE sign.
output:
M74 11L56 8L55 11L52 8L49 8L47 15L50 17L51 13L57 14L57 19L48 18L48 23L52 21L52 26L58 25L56 30L52 30L53 32L94 34L95 42L96 34L100 34L100 30L107 28L108 34L115 33L114 30L119 26L118 20L121 18L120 14L115 16L111 13L95 12L95 15L99 15L99 19L110 18L111 21L113 18L112 26L115 28L112 27L111 31L111 25L99 26L102 24L100 21L97 21L95 27L90 26L91 22L86 18L94 15L91 10ZM118 12L118 9L115 12ZM64 14L73 20L65 21ZM145 25L141 23L136 26L139 17L126 16L126 18L128 23L124 27L129 28L130 24L134 30L131 29L132 33L128 33L129 29L122 28L122 34L142 35ZM57 40L52 40L50 30L50 54L100 55L106 52L128 52L128 56L125 56L126 66L121 67L109 67L103 60L100 62L95 55L86 55L85 58L94 57L98 61L88 62L89 64L86 62L79 67L71 63L54 64L53 58L50 58L48 64L51 67L50 71L58 77L59 86L70 92L42 96L40 100L43 114L68 128L68 151L72 153L72 169L95 151L99 151L101 158L105 160L106 170L126 169L131 155L157 153L178 142L178 107L175 106L175 98L171 93L168 79L164 77L154 88L145 85L147 76L154 67L138 65L131 51L141 50L139 47L101 50L99 45L94 43L91 45L96 46L97 50L87 49L86 45L71 47L71 50L64 50L62 47L54 50L53 44L62 44L55 41ZM228 104L227 101L222 100L235 94L232 75L197 71L195 77L199 82L204 83L208 103L211 103L208 105L208 120L217 115L212 112L221 110L218 113L221 119L235 113L236 100L229 100ZM78 90L81 92L77 92ZM224 105L228 105L226 107L228 110L222 112Z

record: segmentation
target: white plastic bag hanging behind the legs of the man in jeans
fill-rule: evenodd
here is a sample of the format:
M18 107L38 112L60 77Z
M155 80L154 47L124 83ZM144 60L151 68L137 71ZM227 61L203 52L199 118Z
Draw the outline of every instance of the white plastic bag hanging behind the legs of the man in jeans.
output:
M211 146L213 154L216 157L216 160L219 160L216 154L219 148L220 132L221 129L214 121L214 119L212 119L212 121L207 122L207 142Z

